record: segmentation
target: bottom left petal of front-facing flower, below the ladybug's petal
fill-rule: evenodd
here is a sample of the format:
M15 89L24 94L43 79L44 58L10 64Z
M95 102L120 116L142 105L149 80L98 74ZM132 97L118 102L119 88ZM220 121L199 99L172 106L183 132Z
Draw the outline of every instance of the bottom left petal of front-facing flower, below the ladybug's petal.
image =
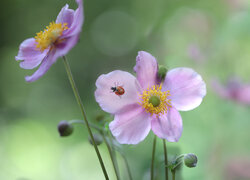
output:
M134 105L128 111L116 114L109 128L119 143L138 144L148 135L151 119L140 105Z

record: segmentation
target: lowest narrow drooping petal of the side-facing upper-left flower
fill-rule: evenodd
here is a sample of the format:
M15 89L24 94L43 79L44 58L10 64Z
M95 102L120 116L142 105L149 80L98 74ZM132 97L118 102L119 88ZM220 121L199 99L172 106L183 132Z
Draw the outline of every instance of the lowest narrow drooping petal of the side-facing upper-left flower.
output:
M42 77L50 68L52 64L56 62L58 55L55 50L52 50L48 53L48 55L42 61L40 67L36 70L34 74L31 76L26 76L25 80L27 82L33 82Z

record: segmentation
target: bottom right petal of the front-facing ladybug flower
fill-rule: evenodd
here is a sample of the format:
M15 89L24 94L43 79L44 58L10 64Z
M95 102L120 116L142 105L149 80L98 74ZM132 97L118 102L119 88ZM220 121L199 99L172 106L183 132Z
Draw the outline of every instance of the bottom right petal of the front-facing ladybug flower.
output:
M152 131L162 139L177 142L182 134L182 118L175 108L159 118L154 118L151 123Z

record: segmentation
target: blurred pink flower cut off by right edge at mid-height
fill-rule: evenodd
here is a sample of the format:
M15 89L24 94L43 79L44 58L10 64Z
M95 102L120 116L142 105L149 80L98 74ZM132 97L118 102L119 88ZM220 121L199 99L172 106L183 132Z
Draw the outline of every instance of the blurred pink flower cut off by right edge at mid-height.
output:
M222 85L217 79L212 81L214 92L224 99L231 99L241 104L250 105L250 84L243 84L238 78L228 79Z

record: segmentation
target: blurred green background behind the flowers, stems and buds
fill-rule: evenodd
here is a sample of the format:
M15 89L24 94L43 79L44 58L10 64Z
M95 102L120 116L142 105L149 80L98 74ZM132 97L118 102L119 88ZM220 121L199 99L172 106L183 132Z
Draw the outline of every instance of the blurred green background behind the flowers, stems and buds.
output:
M58 135L61 120L81 119L62 59L34 83L24 81L33 70L15 61L20 43L55 20L66 3L77 7L73 0L1 1L1 180L104 179L85 127L75 127L67 138ZM67 57L88 118L94 121L101 113L94 99L97 77L116 69L132 73L139 50L170 69L191 67L204 78L207 96L197 109L181 112L183 135L167 146L170 155L192 152L199 162L193 169L183 167L177 179L227 179L228 163L250 156L250 111L218 98L210 82L232 75L249 81L249 5L247 0L85 0L80 41ZM202 52L199 60L189 55L193 45ZM123 146L136 180L149 179L152 140L151 132L140 144ZM115 179L107 149L99 147ZM162 151L158 139L157 179L164 179Z

